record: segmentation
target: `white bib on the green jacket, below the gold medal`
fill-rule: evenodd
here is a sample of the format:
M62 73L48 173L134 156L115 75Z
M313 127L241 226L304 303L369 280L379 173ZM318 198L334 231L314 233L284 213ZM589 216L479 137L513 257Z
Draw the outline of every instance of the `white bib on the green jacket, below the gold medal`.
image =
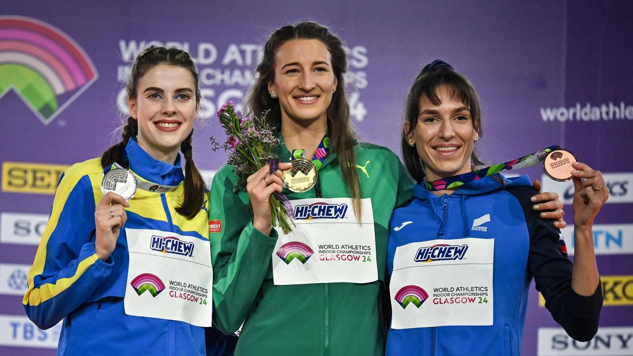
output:
M273 251L275 284L370 283L378 279L372 200L362 202L362 224L350 198L293 200L292 232Z

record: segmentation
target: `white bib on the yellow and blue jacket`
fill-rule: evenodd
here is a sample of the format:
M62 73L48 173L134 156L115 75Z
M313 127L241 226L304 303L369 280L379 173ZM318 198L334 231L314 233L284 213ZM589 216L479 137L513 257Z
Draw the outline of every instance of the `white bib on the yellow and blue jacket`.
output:
M125 314L211 326L209 240L145 229L125 234L130 257Z

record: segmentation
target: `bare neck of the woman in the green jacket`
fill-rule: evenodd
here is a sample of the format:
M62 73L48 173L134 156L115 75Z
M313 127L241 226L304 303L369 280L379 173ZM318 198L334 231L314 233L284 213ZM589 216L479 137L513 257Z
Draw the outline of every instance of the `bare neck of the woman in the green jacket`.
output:
M317 120L300 123L284 116L282 115L281 120L281 136L284 137L285 146L291 152L294 149L304 149L306 158L311 160L327 132L327 117L323 115Z

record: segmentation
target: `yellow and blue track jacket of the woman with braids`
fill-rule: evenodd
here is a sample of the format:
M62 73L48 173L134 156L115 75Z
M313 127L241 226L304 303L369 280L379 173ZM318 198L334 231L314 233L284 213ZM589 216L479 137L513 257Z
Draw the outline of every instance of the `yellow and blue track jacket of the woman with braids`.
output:
M208 239L208 199L191 220L175 211L184 194L180 156L175 165L154 160L134 139L125 151L128 168L137 179L178 187L167 193L138 189L126 208L124 227ZM108 260L100 260L94 250L94 211L103 197L103 172L101 158L94 158L73 165L61 176L28 273L23 300L28 317L42 329L64 319L58 355L204 355L203 327L125 314L125 229L120 230Z

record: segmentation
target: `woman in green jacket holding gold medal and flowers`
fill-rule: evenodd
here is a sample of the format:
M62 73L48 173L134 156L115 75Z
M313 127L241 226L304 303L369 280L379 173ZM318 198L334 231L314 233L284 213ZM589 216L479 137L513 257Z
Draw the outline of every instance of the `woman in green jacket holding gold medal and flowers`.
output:
M318 178L301 193L283 189L281 172L268 166L242 193L233 193L232 166L213 179L213 321L225 333L244 322L236 355L384 353L389 218L411 198L413 180L388 148L356 141L346 70L341 39L317 23L282 27L265 44L248 111L270 110L277 155L311 159ZM289 235L272 227L275 191L292 202Z

